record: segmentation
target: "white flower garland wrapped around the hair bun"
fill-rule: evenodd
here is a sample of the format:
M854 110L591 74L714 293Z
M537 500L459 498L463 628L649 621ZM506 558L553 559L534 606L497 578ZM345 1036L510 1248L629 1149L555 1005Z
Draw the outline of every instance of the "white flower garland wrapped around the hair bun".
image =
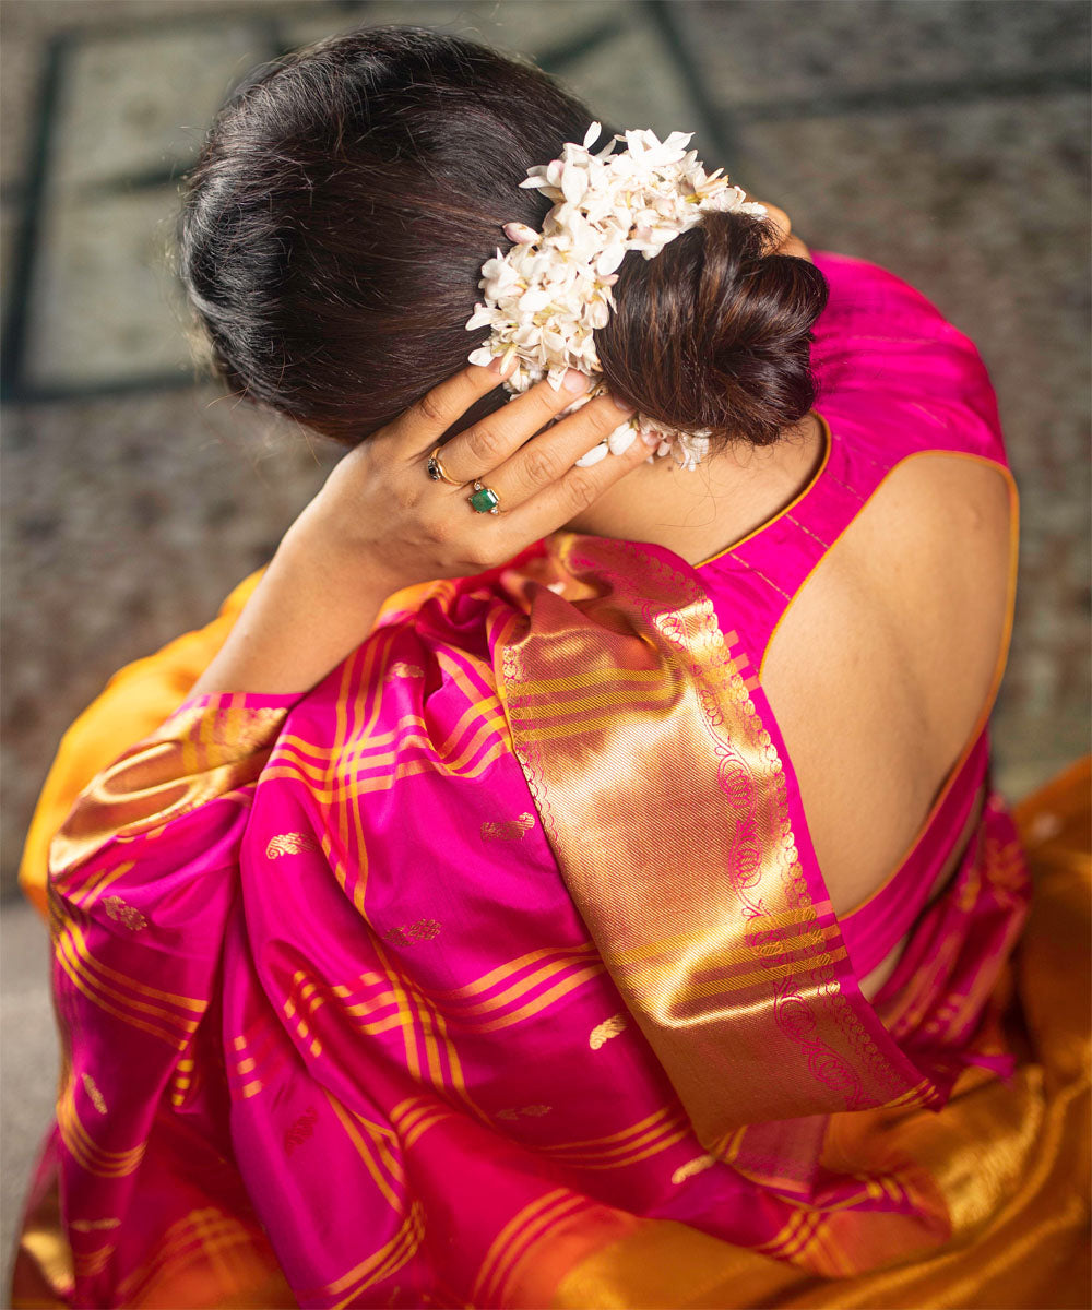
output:
M746 200L741 187L729 185L722 169L705 172L697 152L687 151L692 132L671 132L661 141L653 131L631 130L593 155L600 132L600 124L593 123L581 145L568 141L560 159L527 170L519 185L556 203L541 232L524 223L505 224L505 236L515 244L507 254L498 249L482 266L478 286L485 303L475 307L467 329L489 326L490 335L469 360L485 365L498 355L506 364L515 359L505 381L511 393L526 392L543 377L557 390L569 368L589 377L602 375L594 334L607 325L616 270L629 250L652 259L708 211L767 214L764 206ZM625 149L616 153L619 141L625 141ZM593 385L562 413L603 390L602 383ZM675 461L688 469L709 447L708 428L682 432L637 414L577 462L620 455L638 431L658 435L655 453L675 451Z

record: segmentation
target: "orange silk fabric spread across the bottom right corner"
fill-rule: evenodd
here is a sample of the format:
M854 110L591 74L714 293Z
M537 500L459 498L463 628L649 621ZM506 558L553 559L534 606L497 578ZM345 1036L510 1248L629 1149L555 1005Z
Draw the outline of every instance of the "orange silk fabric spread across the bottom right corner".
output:
M682 1224L644 1221L570 1269L552 1305L1084 1310L1092 1301L1091 789L1085 757L1016 810L1036 895L1007 965L1008 988L1020 994L1007 1015L1023 1053L1012 1082L971 1068L943 1114L884 1107L830 1119L827 1163L872 1167L899 1157L920 1166L952 1218L943 1247L831 1281ZM847 1265L853 1229L852 1212L801 1208L800 1239L840 1247Z

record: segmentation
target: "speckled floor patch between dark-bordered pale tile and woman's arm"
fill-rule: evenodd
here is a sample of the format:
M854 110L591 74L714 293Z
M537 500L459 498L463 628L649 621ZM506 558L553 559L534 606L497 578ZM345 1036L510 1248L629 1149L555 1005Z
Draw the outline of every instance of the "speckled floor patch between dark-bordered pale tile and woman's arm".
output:
M271 557L334 451L212 388L9 406L0 866L64 727L110 673L207 622Z

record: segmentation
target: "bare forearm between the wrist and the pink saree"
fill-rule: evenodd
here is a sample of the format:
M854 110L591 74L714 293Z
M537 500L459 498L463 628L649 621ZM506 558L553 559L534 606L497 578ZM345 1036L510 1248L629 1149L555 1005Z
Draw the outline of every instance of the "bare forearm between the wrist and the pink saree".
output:
M309 690L368 635L401 586L342 546L319 502L296 519L190 696Z

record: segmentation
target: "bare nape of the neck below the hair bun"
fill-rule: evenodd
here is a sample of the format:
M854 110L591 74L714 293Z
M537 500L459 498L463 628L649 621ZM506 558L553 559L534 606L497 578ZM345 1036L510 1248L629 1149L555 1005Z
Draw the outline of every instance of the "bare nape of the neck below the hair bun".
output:
M696 565L790 504L825 453L823 424L809 413L772 445L731 445L692 472L676 468L670 456L641 464L565 527L650 541Z

